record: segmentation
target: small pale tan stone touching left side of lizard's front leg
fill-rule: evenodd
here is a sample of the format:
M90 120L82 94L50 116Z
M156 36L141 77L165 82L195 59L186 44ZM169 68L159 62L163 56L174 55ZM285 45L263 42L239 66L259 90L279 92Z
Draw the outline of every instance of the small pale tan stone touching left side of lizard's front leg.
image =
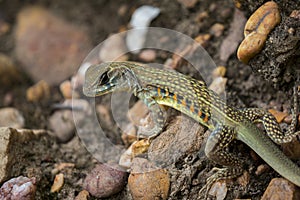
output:
M128 111L128 118L134 125L142 125L141 120L149 113L148 107L143 101L137 101Z

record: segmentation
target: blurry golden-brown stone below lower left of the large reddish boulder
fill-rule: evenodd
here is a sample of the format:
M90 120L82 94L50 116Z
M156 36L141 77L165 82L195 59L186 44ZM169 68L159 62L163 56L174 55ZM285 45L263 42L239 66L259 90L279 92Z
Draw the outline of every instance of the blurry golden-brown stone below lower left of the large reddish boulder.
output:
M27 101L39 102L50 97L50 86L44 80L39 81L26 91Z

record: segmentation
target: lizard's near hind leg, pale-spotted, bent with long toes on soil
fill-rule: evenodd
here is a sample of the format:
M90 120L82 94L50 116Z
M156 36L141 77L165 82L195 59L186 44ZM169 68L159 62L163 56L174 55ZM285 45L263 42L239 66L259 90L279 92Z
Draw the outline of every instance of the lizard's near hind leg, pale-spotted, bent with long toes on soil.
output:
M233 128L225 125L217 125L215 130L208 137L205 154L206 156L218 164L226 166L225 168L214 168L215 172L207 179L205 186L200 190L199 194L207 198L208 192L213 185L221 179L230 179L238 177L242 174L242 161L232 153L227 151L228 144L235 139L236 132Z

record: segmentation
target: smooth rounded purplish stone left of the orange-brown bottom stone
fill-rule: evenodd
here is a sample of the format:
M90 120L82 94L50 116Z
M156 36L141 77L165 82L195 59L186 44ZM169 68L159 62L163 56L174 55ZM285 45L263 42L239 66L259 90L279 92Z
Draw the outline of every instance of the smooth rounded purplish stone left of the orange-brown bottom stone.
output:
M87 174L83 188L94 197L105 198L120 192L126 180L127 173L118 165L99 164Z

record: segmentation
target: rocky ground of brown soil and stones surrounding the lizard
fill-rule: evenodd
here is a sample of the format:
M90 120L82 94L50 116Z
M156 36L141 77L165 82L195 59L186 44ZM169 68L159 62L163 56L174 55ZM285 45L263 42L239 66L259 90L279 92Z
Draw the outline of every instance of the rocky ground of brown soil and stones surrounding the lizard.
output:
M145 105L131 97L127 114L111 106L121 105L122 98L106 95L94 102L82 94L78 69L94 47L132 28L134 13L151 5L159 14L149 19L150 26L184 33L212 57L216 68L204 77L211 89L226 91L229 105L269 110L287 130L292 88L299 89L300 3L275 1L278 9L272 4L250 18L264 2L1 1L0 199L201 199L198 193L216 166L203 152L209 131L168 109L163 133L136 142L135 125L149 120ZM187 62L197 48L168 35L147 40L161 47L170 41L171 52L122 55L128 43L116 37L84 62L155 62L201 78ZM98 134L103 131L106 137ZM279 148L300 164L297 139ZM230 150L246 158L244 173L214 184L212 196L300 198L298 187L246 145L235 141Z

